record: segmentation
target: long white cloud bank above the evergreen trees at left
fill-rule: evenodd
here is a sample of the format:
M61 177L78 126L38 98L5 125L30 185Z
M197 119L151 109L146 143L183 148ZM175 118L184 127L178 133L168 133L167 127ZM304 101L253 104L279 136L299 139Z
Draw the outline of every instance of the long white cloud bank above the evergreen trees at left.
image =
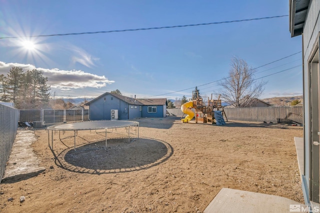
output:
M45 69L35 67L31 64L19 63L4 63L0 61L0 74L6 75L13 66L21 67L24 71L37 69L43 72L43 76L48 78L47 84L51 88L63 90L79 89L79 88L101 88L107 84L114 83L108 80L104 75L99 76L82 70L60 70L60 69Z

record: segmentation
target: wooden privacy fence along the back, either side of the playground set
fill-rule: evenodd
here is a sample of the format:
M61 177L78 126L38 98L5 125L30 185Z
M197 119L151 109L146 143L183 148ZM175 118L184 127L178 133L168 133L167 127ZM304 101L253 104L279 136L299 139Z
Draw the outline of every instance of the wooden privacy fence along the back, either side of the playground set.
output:
M169 114L182 116L180 109L167 109ZM303 124L303 106L225 107L228 120L267 123Z

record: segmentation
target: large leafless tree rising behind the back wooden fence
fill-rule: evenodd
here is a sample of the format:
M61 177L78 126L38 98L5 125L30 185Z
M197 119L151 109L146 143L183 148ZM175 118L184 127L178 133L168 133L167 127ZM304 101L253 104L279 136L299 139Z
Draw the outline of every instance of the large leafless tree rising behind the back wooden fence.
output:
M221 97L235 107L248 107L262 94L265 81L254 79L256 69L245 60L232 57L229 76L219 82Z

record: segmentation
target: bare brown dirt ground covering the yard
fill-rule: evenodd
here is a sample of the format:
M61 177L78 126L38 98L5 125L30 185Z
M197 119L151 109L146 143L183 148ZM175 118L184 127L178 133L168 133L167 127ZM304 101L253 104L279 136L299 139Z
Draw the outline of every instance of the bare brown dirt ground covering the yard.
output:
M139 139L131 143L122 138L124 128L107 133L106 146L103 132L81 131L74 151L73 138L61 143L55 134L54 153L46 130L36 130L32 146L46 170L1 183L0 212L196 213L221 188L304 203L293 141L302 137L302 127L250 122L215 126L181 123L175 116L135 121ZM135 128L130 132L137 133Z

